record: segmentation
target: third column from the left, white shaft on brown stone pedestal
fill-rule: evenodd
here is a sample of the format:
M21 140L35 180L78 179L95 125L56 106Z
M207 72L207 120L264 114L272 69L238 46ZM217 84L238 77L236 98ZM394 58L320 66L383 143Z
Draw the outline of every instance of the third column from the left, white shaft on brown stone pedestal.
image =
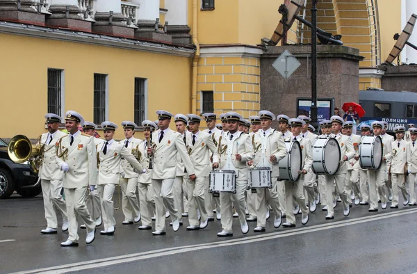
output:
M120 0L97 0L96 22L92 24L92 31L105 35L133 38L134 30L123 22L122 2Z

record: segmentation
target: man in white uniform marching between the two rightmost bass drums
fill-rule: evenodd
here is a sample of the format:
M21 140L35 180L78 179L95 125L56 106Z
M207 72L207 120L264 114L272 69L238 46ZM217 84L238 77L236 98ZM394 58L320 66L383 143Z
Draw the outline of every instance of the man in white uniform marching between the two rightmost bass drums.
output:
M343 123L345 128L345 136L348 136L352 141L353 148L359 155L359 143L361 143L361 136L352 134L353 122L347 121ZM354 204L358 205L361 202L361 190L359 186L359 161L355 157L347 162L347 179L346 179L347 196L354 200Z

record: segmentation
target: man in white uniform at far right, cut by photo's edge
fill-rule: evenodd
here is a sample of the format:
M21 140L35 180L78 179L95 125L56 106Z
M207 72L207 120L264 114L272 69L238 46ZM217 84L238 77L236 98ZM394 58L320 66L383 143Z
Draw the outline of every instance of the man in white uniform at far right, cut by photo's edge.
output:
M415 193L416 186L416 173L417 173L417 129L415 127L410 127L409 130L410 141L407 144L407 173L408 173L408 182L410 190L410 206L417 205L417 197Z

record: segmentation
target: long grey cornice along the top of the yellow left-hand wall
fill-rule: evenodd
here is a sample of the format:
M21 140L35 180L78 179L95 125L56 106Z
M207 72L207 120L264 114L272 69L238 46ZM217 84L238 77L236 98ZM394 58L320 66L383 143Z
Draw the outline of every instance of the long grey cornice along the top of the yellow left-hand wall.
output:
M117 38L95 33L84 33L81 31L69 31L64 29L54 29L47 26L33 26L12 22L0 22L0 33L24 35L33 38L44 38L67 42L77 42L88 45L115 47L119 49L147 51L156 54L168 54L187 58L192 58L195 54L194 49L186 47L176 47L145 40Z

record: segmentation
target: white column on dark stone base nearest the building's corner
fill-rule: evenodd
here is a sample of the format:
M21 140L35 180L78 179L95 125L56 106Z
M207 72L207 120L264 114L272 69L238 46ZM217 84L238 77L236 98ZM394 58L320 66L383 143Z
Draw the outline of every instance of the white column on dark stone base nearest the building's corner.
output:
M172 35L172 43L177 45L190 45L191 35L188 26L188 4L187 0L165 1L165 8L168 10L165 15L167 34Z

